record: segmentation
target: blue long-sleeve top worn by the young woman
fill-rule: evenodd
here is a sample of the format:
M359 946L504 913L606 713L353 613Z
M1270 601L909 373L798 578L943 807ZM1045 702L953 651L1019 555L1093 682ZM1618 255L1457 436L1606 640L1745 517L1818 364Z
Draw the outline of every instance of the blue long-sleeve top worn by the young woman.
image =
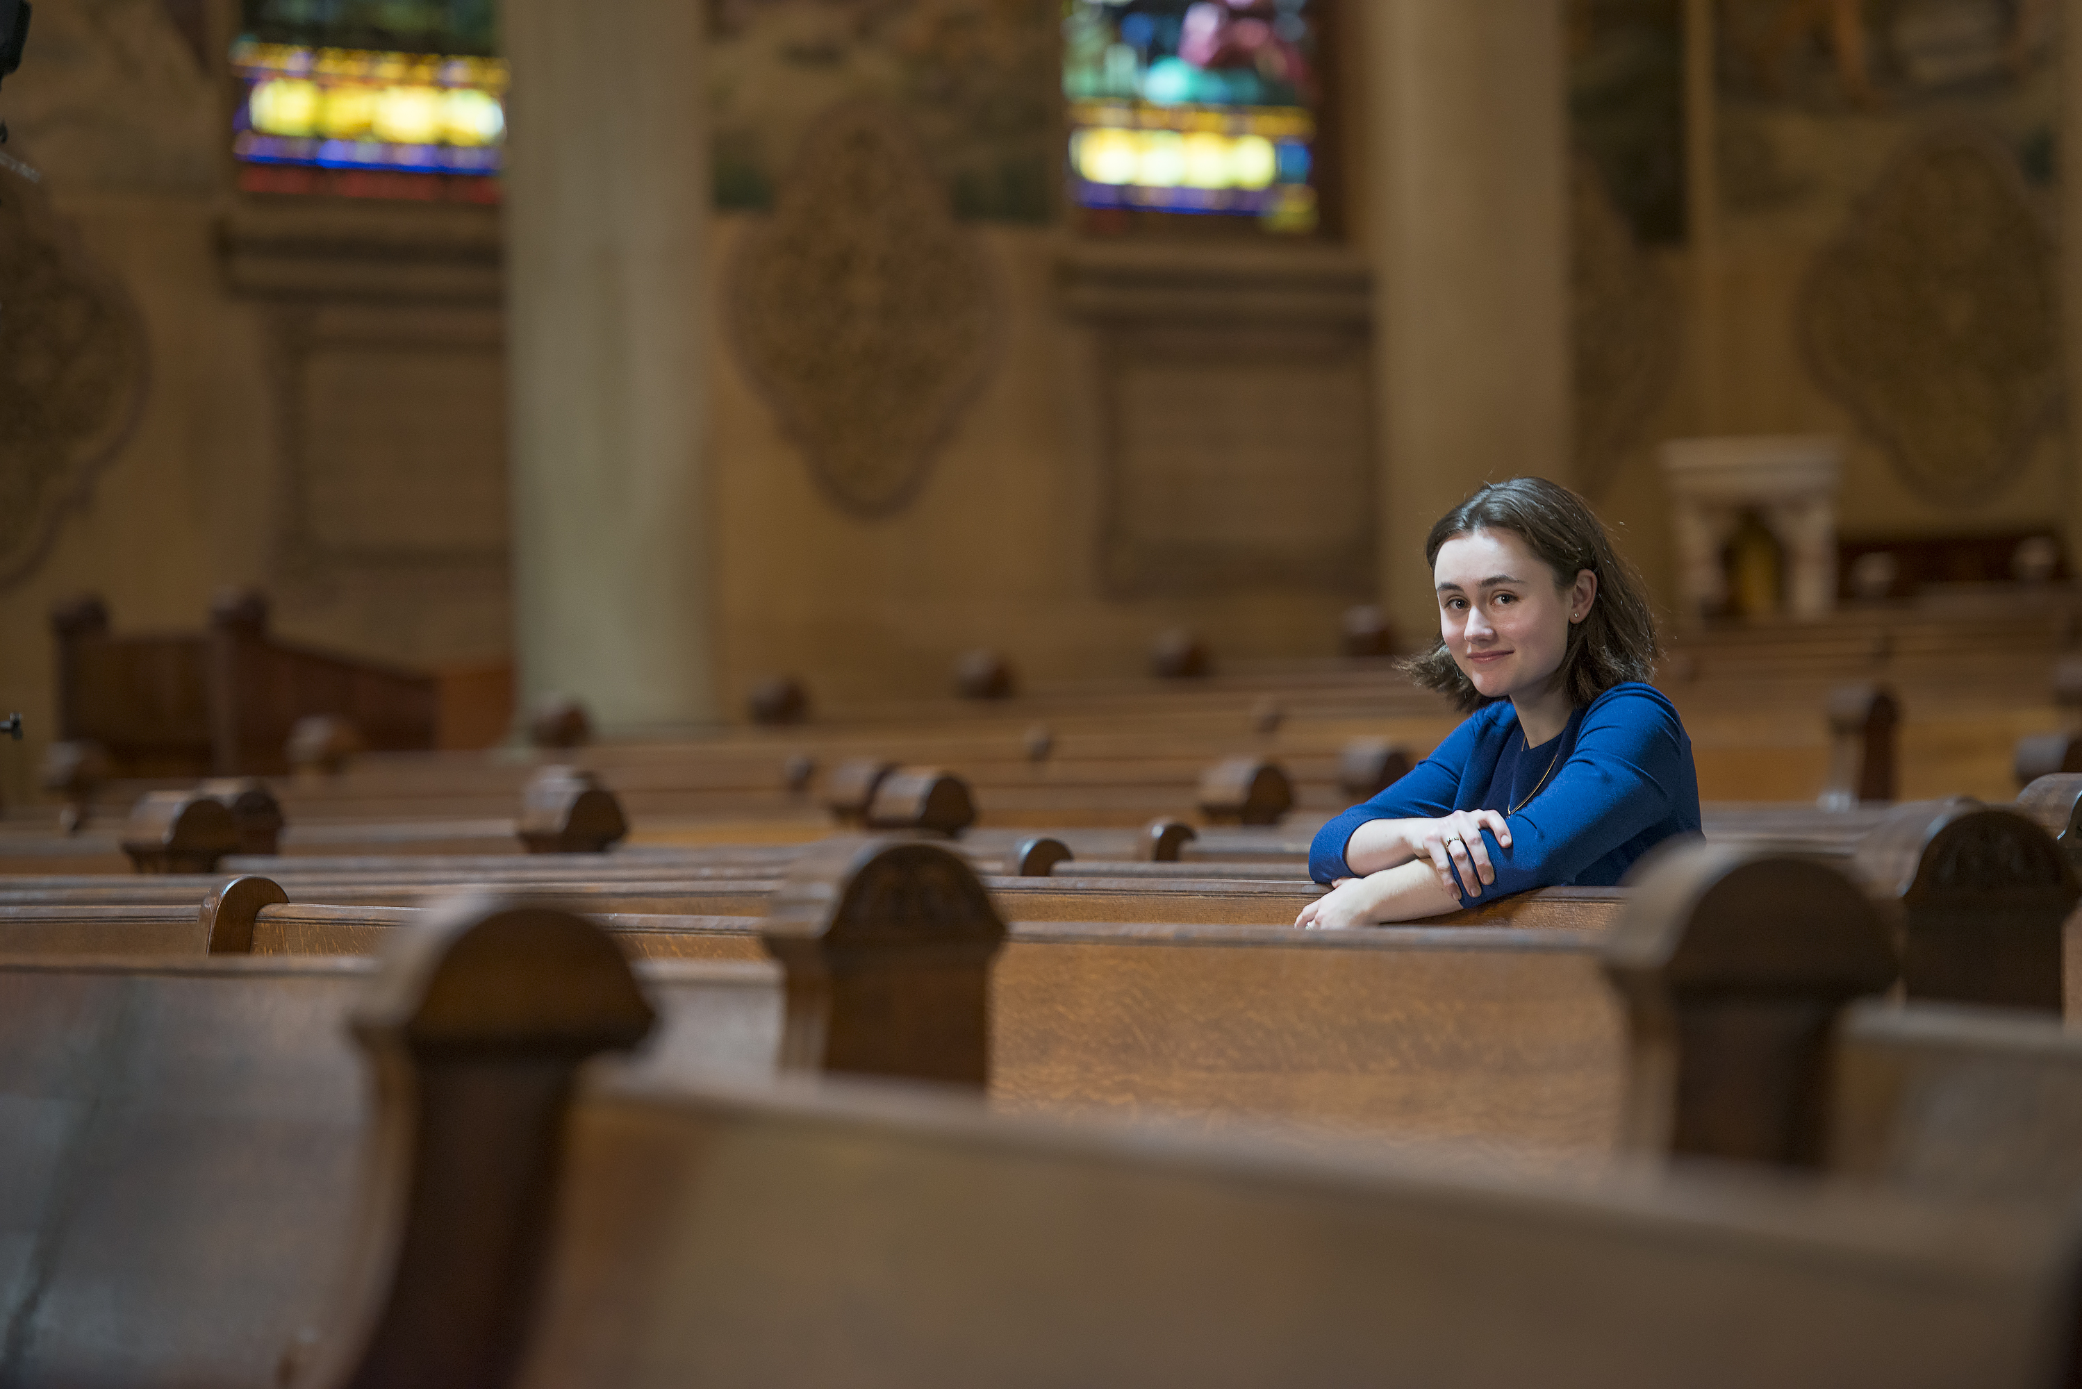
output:
M1468 895L1470 904L1534 887L1609 887L1664 839L1699 833L1691 737L1653 685L1614 685L1570 714L1555 741L1559 748L1528 750L1509 700L1476 710L1407 777L1316 831L1310 877L1357 877L1345 845L1368 820L1509 810L1528 793L1532 800L1505 816L1512 848L1497 848L1482 831L1497 881L1480 885L1480 898Z

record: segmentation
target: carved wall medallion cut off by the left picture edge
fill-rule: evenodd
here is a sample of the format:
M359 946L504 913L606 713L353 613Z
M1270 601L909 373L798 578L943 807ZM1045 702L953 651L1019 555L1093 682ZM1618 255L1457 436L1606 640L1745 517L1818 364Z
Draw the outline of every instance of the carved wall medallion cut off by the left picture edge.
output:
M35 571L129 439L146 356L123 285L0 167L0 587Z

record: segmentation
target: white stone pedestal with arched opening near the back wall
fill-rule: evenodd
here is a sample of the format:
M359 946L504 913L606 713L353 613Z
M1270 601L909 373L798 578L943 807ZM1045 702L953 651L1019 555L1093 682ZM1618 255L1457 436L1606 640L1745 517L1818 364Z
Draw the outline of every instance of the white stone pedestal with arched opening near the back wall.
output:
M1697 625L1728 602L1722 548L1751 512L1786 560L1786 610L1836 604L1836 479L1843 441L1807 435L1670 439L1661 450L1678 546L1680 616Z

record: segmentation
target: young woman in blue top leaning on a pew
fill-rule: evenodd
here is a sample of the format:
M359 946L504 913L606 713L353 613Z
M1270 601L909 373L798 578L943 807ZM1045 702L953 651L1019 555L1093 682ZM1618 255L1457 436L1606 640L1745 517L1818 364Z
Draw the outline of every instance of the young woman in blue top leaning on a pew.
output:
M1491 483L1424 541L1439 646L1405 664L1472 716L1407 777L1316 835L1335 889L1297 927L1414 920L1532 887L1609 885L1699 833L1678 712L1647 685L1641 575L1568 487Z

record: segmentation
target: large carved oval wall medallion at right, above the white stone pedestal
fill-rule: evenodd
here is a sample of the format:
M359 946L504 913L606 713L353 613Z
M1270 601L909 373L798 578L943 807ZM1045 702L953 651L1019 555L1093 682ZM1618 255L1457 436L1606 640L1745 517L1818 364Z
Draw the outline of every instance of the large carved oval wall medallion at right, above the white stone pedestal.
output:
M1909 148L1816 258L1799 312L1822 387L1930 502L1990 500L2055 421L2055 246L1988 140Z

